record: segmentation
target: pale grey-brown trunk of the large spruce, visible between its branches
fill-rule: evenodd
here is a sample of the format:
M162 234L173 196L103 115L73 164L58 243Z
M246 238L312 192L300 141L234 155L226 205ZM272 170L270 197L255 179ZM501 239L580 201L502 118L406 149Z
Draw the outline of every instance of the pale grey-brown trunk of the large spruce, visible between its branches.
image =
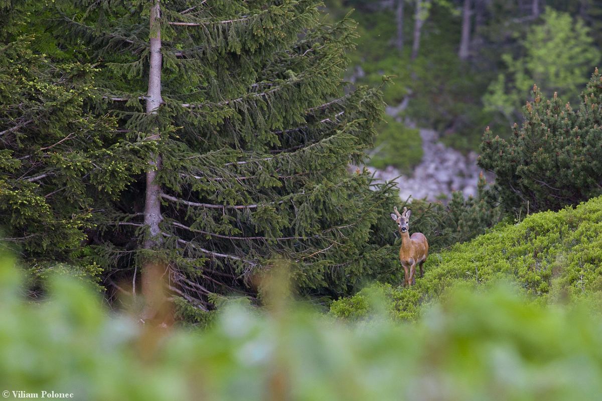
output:
M146 112L147 114L157 114L157 109L163 103L161 99L161 25L160 25L160 0L154 0L150 16L150 42L151 54L149 62L149 84L146 94ZM147 140L156 141L160 132L155 129ZM161 170L161 155L151 154L149 160L149 170L146 172L146 196L144 202L144 225L148 227L148 236L144 239L144 249L151 249L159 245L161 240L161 186L156 182L157 172ZM157 302L152 300L157 298L155 294L157 283L157 274L152 274L156 269L155 260L146 260L142 269L142 293L145 299L143 319L151 318L157 311Z

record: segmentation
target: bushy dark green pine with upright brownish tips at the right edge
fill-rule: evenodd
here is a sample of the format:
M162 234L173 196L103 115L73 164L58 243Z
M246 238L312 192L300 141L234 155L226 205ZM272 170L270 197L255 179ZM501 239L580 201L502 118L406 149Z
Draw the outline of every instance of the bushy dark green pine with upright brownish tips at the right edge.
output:
M533 88L525 122L506 141L487 130L479 165L496 176L492 188L509 212L559 210L602 192L602 76L595 71L578 109Z

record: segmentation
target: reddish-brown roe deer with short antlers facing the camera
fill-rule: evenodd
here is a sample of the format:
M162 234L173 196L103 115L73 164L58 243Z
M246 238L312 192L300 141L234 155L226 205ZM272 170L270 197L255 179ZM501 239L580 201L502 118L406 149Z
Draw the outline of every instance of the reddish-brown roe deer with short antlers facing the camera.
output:
M408 222L412 210L404 207L401 214L397 211L397 207L394 207L393 210L395 213L391 213L391 218L397 223L399 234L402 236L402 247L399 248L399 260L402 262L403 270L405 271L405 285L409 287L416 283L416 278L414 277L416 265L420 267L420 277L424 275L422 265L426 257L429 256L429 242L423 233L414 233L410 236Z

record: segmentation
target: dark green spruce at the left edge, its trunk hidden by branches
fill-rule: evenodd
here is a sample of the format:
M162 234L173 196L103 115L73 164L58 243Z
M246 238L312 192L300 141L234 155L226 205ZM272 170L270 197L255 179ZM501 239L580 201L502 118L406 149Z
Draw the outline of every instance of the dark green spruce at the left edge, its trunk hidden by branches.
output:
M122 189L124 166L143 165L115 141L116 120L91 109L98 70L49 41L34 6L14 3L0 4L1 245L22 257L34 287L61 263L95 279L82 246L95 200Z

